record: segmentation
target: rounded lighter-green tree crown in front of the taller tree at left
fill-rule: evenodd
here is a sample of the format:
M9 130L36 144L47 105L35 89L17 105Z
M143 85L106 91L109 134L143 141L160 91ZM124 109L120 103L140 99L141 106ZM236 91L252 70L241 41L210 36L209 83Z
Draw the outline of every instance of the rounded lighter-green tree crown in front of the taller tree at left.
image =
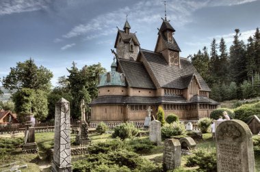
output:
M47 93L40 89L23 88L12 95L15 111L19 115L31 114L38 120L45 119L48 115ZM23 121L21 121L23 122Z

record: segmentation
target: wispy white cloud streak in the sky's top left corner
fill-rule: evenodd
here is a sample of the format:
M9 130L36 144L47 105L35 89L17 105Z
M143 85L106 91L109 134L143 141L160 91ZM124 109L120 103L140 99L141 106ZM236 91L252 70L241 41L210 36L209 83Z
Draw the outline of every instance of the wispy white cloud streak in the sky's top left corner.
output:
M47 8L50 3L51 0L1 0L0 16L42 10Z

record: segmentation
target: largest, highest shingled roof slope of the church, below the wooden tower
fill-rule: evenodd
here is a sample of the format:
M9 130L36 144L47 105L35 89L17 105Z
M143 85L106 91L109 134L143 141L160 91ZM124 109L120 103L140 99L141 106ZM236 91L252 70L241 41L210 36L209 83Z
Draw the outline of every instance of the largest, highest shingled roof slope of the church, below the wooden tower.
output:
M166 60L160 53L141 49L148 66L157 79L159 86L164 88L185 89L190 84L192 76L195 75L203 91L211 91L207 83L198 74L194 66L187 59L181 58L179 66L168 66Z

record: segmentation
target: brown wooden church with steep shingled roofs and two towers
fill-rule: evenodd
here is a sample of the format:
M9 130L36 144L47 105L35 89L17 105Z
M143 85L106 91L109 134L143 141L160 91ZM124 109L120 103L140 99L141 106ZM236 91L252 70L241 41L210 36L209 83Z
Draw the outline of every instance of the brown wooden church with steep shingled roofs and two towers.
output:
M209 117L218 102L192 63L180 57L174 28L165 18L158 31L155 51L140 48L129 22L118 29L111 71L99 76L99 96L92 100L92 121L144 121L148 106L156 117L163 106L166 117L181 120Z

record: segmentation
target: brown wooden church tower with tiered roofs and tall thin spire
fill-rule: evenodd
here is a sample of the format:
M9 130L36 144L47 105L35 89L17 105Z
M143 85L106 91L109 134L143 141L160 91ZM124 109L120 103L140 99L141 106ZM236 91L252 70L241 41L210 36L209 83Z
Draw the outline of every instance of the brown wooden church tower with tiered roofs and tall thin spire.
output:
M166 3L164 3L166 5ZM161 18L163 22L161 23L160 29L158 29L158 38L155 46L155 52L161 53L166 59L168 66L180 66L180 58L179 52L181 49L179 48L177 42L174 40L174 32L175 29L170 25L170 20L166 18L166 10L165 10L165 18Z

